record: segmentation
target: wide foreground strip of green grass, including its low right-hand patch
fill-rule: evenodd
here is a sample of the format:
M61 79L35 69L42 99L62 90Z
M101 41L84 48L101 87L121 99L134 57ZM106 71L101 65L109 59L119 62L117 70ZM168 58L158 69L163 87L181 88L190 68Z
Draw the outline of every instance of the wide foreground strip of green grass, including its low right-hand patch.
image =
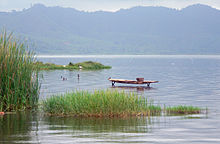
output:
M127 117L169 114L197 114L198 107L180 106L162 109L135 93L110 90L94 92L76 91L53 96L42 102L43 111L49 115L85 117Z

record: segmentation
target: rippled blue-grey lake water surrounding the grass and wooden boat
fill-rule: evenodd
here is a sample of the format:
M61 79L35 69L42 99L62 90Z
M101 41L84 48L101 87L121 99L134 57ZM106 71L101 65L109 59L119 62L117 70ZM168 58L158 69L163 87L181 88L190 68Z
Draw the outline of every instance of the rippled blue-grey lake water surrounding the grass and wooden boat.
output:
M208 113L140 118L49 117L23 112L0 116L0 143L220 143L220 56L59 56L43 62L92 60L112 66L99 71L42 71L40 99L74 90L137 92L166 106L193 105ZM77 74L80 75L78 79ZM66 77L63 81L61 76ZM116 84L111 78L158 80L151 88Z

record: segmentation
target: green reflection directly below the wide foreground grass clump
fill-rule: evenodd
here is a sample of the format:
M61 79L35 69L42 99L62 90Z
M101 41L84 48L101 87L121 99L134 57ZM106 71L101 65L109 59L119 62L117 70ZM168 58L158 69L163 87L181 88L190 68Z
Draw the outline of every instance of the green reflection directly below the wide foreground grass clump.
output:
M76 117L46 117L43 119L50 125L50 130L57 130L64 125L65 129L85 131L86 133L125 132L146 133L151 131L154 124L153 118L76 118ZM58 127L57 127L58 126ZM63 128L62 128L63 129Z

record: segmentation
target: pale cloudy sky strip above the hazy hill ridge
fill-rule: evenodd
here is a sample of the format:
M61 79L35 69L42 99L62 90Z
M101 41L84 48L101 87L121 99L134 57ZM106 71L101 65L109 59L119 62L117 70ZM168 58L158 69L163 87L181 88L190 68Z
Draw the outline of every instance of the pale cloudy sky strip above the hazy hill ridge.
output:
M140 5L181 9L197 3L220 9L220 0L0 0L0 11L22 10L36 3L46 6L71 7L84 11L116 11Z

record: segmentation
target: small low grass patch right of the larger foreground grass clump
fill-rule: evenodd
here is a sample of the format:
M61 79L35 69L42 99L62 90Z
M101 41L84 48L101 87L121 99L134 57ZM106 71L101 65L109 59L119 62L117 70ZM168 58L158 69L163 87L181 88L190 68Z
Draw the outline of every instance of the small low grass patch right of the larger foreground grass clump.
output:
M173 106L166 107L165 111L167 114L198 114L201 112L201 108L194 106Z

